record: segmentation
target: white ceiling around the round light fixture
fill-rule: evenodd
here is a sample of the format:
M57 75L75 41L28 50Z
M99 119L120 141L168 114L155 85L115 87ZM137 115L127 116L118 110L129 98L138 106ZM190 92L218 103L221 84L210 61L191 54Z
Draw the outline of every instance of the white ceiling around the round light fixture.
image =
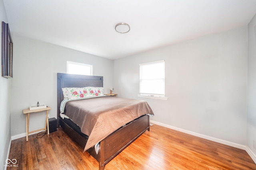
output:
M256 0L4 0L12 34L108 59L247 25ZM130 25L118 33L115 25ZM15 42L14 42L15 43Z

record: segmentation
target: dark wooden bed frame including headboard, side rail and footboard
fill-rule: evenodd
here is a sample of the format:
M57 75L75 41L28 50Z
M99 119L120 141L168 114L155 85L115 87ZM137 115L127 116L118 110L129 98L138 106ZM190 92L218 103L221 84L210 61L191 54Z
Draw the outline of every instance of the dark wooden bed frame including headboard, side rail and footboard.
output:
M61 126L62 129L82 148L85 147L88 137L86 138L74 131L62 120L62 118L60 118L60 103L63 100L62 88L86 86L103 87L103 77L57 73L58 127ZM94 147L86 151L99 162L99 170L103 170L105 165L112 160L112 158L124 150L146 130L150 131L149 115L143 115L134 119L100 141L98 154L96 154Z

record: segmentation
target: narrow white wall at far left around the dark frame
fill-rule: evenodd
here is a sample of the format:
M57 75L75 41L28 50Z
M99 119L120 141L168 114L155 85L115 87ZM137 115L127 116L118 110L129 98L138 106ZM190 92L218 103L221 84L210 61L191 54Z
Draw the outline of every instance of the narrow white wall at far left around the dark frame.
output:
M0 21L8 23L6 12L4 8L3 0L0 0ZM9 25L10 27L12 25ZM0 35L0 44L2 47L2 34ZM2 48L0 47L0 54L2 54ZM2 56L2 55L1 55ZM2 65L2 59L0 60ZM8 147L11 139L11 126L10 126L10 97L11 97L11 80L2 77L2 71L0 71L0 170L4 169L6 156L8 155Z

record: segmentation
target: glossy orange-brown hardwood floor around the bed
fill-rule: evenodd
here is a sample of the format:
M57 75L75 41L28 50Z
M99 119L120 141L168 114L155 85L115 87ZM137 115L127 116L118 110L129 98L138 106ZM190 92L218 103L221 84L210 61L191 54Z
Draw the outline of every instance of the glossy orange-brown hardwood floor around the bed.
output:
M98 170L98 162L59 128L37 139L11 143L9 159L28 170ZM159 125L150 127L105 166L105 170L256 170L245 150L194 137Z

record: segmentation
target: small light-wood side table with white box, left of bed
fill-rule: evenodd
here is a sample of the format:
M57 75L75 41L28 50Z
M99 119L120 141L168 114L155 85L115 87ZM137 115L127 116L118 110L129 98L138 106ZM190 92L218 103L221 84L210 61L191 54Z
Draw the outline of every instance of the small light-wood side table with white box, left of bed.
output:
M30 109L23 109L23 114L26 114L26 140L28 141L28 134L30 133L34 133L34 132L37 132L37 131L46 131L46 127L47 127L47 132L48 132L48 135L49 135L49 121L48 121L48 111L52 109L51 107L46 107L46 108L42 108L42 109L34 109L34 110L30 110ZM37 112L42 112L42 111L46 111L46 120L45 120L45 127L42 128L42 129L37 129L37 130L34 130L34 131L28 131L28 126L29 126L29 115L30 113L37 113Z

